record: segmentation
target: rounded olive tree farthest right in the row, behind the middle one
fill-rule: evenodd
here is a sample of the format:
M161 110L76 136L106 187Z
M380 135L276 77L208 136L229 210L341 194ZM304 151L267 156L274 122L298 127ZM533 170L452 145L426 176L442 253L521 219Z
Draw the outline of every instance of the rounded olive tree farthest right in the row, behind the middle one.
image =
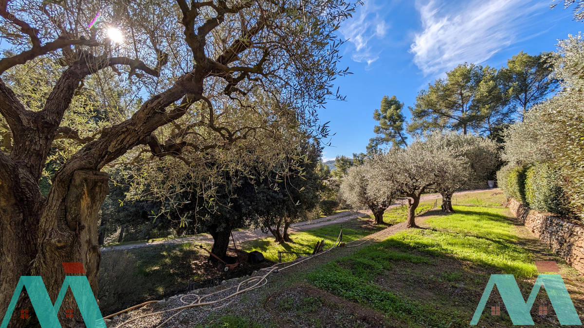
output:
M498 145L483 137L456 132L434 133L426 135L424 142L443 156L434 173L439 179L432 187L442 195L443 212L454 212L454 192L486 182L494 176L499 163Z

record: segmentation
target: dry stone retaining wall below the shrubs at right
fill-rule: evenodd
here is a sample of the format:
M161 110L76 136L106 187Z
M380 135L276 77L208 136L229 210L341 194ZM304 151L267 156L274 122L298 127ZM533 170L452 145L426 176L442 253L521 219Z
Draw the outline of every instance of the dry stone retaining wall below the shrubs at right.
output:
M508 207L531 233L584 274L584 226L579 221L530 210L513 198L509 200Z

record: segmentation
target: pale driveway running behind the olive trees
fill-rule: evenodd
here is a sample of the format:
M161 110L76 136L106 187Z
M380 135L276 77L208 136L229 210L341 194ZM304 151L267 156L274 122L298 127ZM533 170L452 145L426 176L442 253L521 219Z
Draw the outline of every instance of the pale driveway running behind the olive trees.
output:
M468 194L468 193L476 193L479 191L484 191L488 189L481 189L481 190L470 190L470 191L460 191L455 194ZM420 201L428 201L428 200L437 200L440 199L440 194L427 194L422 195ZM389 208L398 207L405 204L405 198L399 199L397 203L394 203ZM290 232L299 232L299 231L306 231L308 229L319 228L325 225L337 224L346 221L350 221L352 219L363 217L364 215L370 214L370 211L345 211L340 212L337 214L329 215L328 217L319 218L311 221L303 221L298 222L290 226ZM399 224L398 224L399 225ZM398 226L395 225L395 226ZM392 227L391 227L392 228ZM390 228L388 228L390 229ZM387 230L387 229L385 229ZM383 231L385 231L383 230ZM383 232L380 231L380 232ZM248 240L255 240L260 238L266 238L269 236L267 233L262 232L260 229L247 229L247 230L238 230L233 232L233 236L237 242L246 242ZM143 243L134 243L134 244L127 244L127 245L117 245L117 246L109 246L109 247L102 247L102 252L108 252L110 250L127 250L127 249L134 249L134 248L141 248L141 247L150 247L150 246L159 246L159 245L178 245L182 243L192 243L192 242L200 242L200 243L213 243L213 238L208 233L201 233L195 236L188 236L188 237L179 237L173 239L165 239L165 240L154 240L152 242L143 242Z

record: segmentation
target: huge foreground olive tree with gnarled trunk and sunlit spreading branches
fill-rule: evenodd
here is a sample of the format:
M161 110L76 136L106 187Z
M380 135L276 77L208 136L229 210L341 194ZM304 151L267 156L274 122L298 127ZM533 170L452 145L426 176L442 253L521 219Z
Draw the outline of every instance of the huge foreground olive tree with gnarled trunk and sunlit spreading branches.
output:
M221 158L250 149L270 166L283 154L269 144L291 121L326 132L315 111L338 96L332 82L346 70L337 67L342 41L336 33L353 10L343 0L0 2L6 50L0 115L9 129L3 132L9 149L0 152L0 201L6 204L0 211L0 308L20 275L53 281L47 288L54 298L63 260L84 263L96 291L96 216L107 194L103 170L155 163L134 174L147 179L159 165L175 165L176 174L164 181L182 181L185 172L197 177L232 163L201 163L206 151ZM98 13L100 22L90 25ZM110 39L110 27L123 42ZM45 59L59 66L32 107L26 99L34 90L17 93L5 78ZM34 66L26 76L42 74ZM107 100L121 94L124 101L111 106L123 110L103 125L67 120L76 113L76 97L83 97L78 90L92 78L105 81L98 95ZM65 147L68 155L53 168L44 196L39 180L59 138L75 146ZM178 191L151 186L163 202L165 193ZM74 300L67 296L64 303Z

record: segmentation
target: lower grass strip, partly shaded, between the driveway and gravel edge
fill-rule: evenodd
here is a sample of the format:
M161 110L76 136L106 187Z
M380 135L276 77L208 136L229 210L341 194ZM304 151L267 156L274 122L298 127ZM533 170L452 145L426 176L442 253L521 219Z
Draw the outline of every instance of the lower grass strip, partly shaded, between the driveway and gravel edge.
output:
M426 205L427 208L427 205ZM385 222L403 221L403 208L385 213ZM343 241L359 239L385 226L371 224L367 217L323 226L291 235L294 242L278 245L273 238L242 243L246 251L259 250L266 258L278 261L278 250L312 252L317 240L325 239L330 247L343 228ZM110 314L129 306L161 299L186 290L189 282L219 275L206 264L207 253L193 247L197 243L150 246L130 250L114 250L102 254L99 271L99 301L104 313ZM283 260L296 259L288 254Z

